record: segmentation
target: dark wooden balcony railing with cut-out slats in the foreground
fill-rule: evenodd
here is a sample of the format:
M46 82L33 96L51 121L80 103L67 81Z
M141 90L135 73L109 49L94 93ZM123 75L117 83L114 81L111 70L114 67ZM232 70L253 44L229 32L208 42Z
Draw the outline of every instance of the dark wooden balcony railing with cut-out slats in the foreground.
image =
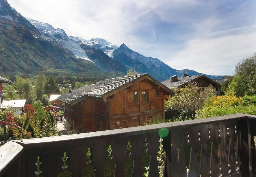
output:
M148 164L148 176L159 177L160 136L164 177L256 176L256 116L245 114L13 140L0 147L0 176L35 177L35 171L40 169L40 176L56 177L63 171L65 152L67 171L73 177L80 177L90 160L95 177L104 177L104 171L111 171L105 168L110 160L114 164L112 176L143 177L142 164ZM108 151L109 145L112 150ZM86 155L88 148L90 159ZM147 163L143 162L145 154L149 157ZM35 165L38 157L41 164ZM128 157L133 159L129 173Z

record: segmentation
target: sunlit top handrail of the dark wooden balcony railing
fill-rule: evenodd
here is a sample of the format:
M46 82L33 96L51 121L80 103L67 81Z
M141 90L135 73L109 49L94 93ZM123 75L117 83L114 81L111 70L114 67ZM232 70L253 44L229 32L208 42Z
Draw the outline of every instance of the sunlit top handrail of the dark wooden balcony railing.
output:
M154 125L145 125L139 127L130 127L125 129L115 129L115 130L107 130L107 131L97 131L90 133L81 133L75 135L62 135L62 136L52 136L45 138L33 138L33 139L24 139L24 140L13 140L9 141L0 147L0 176L2 176L6 170L9 168L10 164L17 159L22 151L25 151L26 148L30 147L39 147L39 146L50 146L53 144L70 144L70 142L74 142L77 140L86 140L90 138L103 137L106 140L109 137L125 137L125 136L133 136L133 135L142 135L146 133L156 133L161 128L167 128L169 130L177 130L180 127L189 127L194 125L208 125L213 126L222 122L227 121L237 121L241 119L256 119L256 116L247 115L247 114L231 114L226 116L218 116L213 118L203 118L196 120L186 120L181 122L170 122L170 123L162 123L162 124L154 124Z

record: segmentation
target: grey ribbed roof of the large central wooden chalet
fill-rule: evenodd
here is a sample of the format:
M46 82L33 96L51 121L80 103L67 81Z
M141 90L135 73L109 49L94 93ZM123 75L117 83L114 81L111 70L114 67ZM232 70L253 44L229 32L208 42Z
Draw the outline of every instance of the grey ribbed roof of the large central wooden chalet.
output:
M133 83L133 80L137 80L142 77L149 76L148 74L136 74L132 76L124 76L124 77L116 77L112 79L106 79L104 81L100 81L96 84L85 85L79 89L73 90L71 93L63 94L59 96L57 99L63 101L65 103L71 103L72 101L79 100L82 97L91 96L91 97L100 97L102 98L106 94L109 94L113 90L119 89L124 85L129 83ZM155 83L160 85L166 92L173 93L172 90L165 87L160 82L156 81L154 78L149 76Z

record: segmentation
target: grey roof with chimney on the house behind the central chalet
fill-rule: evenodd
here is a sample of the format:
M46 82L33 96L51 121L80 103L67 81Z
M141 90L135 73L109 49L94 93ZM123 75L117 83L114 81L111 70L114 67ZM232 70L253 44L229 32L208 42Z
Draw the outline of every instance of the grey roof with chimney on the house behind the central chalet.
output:
M209 79L210 81L212 81L213 83L217 84L220 86L219 83L217 83L216 81L204 76L203 74L201 75L195 75L195 76L184 76L184 77L178 77L177 81L172 81L172 79L167 79L163 82L161 82L163 85L165 85L166 87L168 87L169 89L174 89L175 87L182 87L184 85L186 85L188 82L194 81L195 79L199 79L201 77L205 77L206 79Z

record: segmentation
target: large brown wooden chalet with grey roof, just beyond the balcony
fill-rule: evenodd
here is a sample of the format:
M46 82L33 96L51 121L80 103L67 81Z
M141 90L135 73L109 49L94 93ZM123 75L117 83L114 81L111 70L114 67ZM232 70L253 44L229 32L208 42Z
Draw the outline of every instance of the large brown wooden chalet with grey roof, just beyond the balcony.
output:
M59 96L65 120L78 133L145 125L164 119L164 98L174 94L148 74L106 79Z

